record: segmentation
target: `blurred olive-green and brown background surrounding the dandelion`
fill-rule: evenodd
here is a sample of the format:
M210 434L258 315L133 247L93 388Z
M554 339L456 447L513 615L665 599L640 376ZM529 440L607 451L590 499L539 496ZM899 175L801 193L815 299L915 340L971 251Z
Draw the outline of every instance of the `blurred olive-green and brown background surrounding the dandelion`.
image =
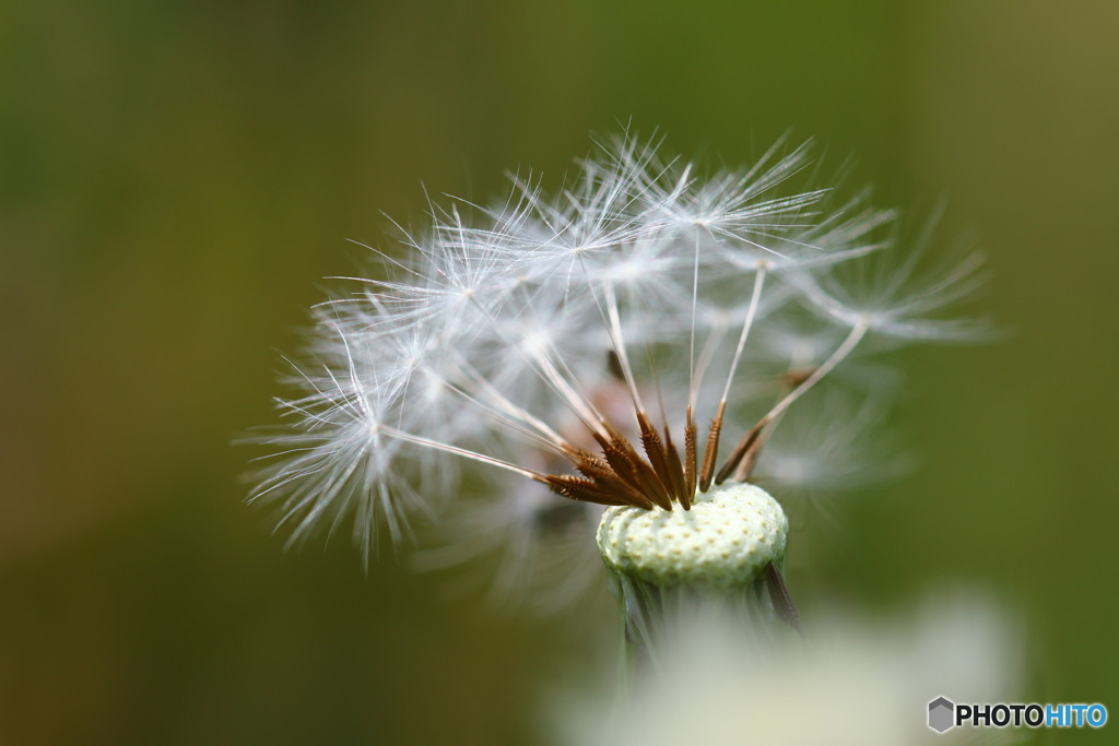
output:
M977 229L1015 333L910 355L922 468L815 561L858 606L996 588L1029 692L1119 714L1117 29L1111 0L0 3L0 744L533 743L586 620L283 555L229 442L275 422L345 238L388 245L424 186L555 185L630 117L728 163L792 128Z

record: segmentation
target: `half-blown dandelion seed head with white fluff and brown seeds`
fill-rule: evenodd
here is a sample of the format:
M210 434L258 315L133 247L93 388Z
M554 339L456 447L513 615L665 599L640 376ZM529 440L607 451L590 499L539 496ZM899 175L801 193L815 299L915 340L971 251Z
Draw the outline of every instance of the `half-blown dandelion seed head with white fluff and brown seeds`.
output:
M631 635L678 587L796 625L782 485L855 481L877 353L981 328L944 315L977 256L938 266L866 192L798 188L809 163L779 142L704 176L621 138L553 193L513 177L432 207L317 308L252 500L290 544L350 531L366 559L425 514L426 565L497 555L495 588L547 607L601 556ZM769 459L789 412L806 436Z

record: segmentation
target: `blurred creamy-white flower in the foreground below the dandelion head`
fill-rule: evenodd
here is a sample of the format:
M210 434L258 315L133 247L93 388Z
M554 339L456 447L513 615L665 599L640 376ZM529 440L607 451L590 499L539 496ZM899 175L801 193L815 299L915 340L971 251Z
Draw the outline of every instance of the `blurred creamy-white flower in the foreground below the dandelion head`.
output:
M631 696L558 700L558 743L579 746L918 746L1007 743L1021 730L940 735L928 703L1016 701L1022 634L975 594L930 599L894 624L821 618L809 644L759 641L725 616L665 640ZM592 689L593 691L593 689ZM555 702L553 702L555 705Z

